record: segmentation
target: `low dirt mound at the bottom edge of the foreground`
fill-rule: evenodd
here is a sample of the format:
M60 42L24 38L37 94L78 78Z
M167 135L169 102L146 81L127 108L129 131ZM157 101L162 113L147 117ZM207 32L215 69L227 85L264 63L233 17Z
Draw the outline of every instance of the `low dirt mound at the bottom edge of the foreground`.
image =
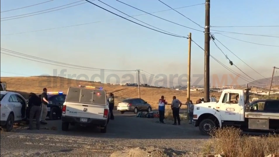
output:
M174 152L174 150L160 149L158 147L148 147L148 148L132 148L123 151L115 151L110 155L110 157L173 157L181 156L181 152Z

